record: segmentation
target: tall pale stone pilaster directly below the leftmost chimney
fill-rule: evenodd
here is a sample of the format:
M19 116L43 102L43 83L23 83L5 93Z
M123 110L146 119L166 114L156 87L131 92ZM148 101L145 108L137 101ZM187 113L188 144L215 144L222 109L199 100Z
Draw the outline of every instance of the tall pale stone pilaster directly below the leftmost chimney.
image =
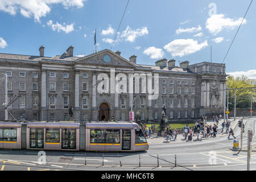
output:
M41 77L41 121L47 121L47 107L46 107L46 70L42 69Z

